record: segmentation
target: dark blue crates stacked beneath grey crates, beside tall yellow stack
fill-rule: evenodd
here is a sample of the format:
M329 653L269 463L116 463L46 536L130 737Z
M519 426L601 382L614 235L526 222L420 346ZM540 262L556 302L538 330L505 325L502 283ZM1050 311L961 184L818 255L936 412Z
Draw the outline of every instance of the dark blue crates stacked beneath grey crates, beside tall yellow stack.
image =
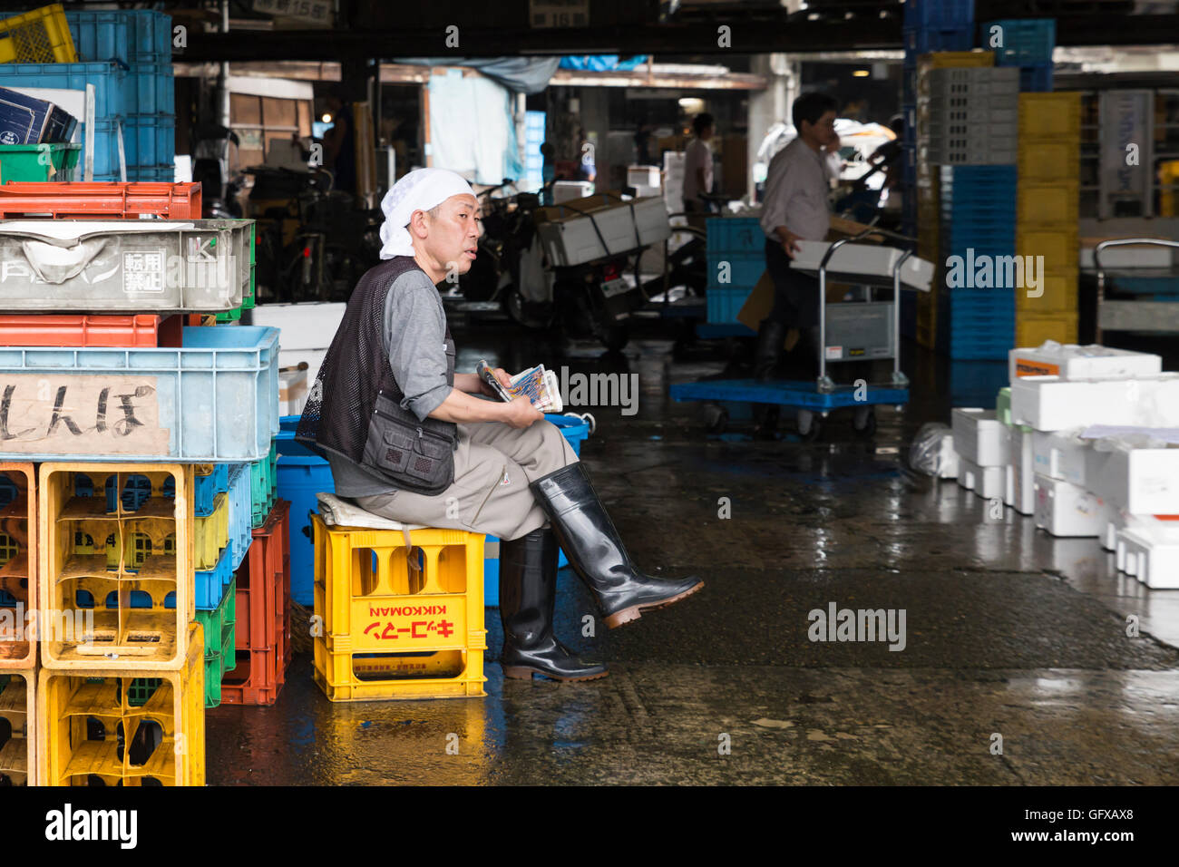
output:
M937 343L955 360L987 361L1007 357L1015 346L1015 290L994 288L994 272L977 285L973 262L1015 254L1014 165L953 165L941 168L941 256L962 257L964 285L950 285L954 270L937 300Z

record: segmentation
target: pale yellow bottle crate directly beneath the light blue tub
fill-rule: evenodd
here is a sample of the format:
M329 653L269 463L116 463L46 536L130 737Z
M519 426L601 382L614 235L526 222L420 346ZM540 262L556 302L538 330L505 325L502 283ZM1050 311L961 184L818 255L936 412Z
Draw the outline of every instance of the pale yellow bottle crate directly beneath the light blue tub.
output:
M158 491L166 479L172 498L137 505L134 491ZM108 480L119 492L113 511ZM41 464L44 666L174 671L185 664L184 636L196 613L192 485L192 465Z

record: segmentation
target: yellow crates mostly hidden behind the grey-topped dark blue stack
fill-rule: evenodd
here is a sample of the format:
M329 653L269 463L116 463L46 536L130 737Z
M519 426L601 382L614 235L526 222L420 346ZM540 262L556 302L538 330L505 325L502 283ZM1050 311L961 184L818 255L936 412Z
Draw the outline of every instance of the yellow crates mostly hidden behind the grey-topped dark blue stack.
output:
M917 109L914 118L917 140L917 256L933 262L936 271L934 288L917 293L917 343L933 349L937 335L937 285L942 280L941 255L941 176L936 166L929 164L929 72L961 67L988 67L995 65L995 53L990 51L938 51L922 54L917 59Z

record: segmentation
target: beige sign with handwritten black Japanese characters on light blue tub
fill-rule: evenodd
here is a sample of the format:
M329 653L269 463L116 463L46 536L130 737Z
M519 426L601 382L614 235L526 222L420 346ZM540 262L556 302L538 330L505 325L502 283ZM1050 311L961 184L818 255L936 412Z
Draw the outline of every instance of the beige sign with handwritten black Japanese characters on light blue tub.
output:
M0 374L0 452L169 454L154 376Z

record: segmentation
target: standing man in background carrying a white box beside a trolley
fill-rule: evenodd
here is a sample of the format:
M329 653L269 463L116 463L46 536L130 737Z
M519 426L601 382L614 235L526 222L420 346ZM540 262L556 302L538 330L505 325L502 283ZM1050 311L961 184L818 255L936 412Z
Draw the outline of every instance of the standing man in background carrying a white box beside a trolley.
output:
M790 260L799 241L823 241L831 225L828 156L838 147L836 109L835 99L823 93L796 99L791 119L798 136L770 160L762 230L765 268L773 280L773 308L758 330L755 379L770 379L791 327L802 333L791 353L798 359L797 374L808 379L818 374L818 280L793 270Z

